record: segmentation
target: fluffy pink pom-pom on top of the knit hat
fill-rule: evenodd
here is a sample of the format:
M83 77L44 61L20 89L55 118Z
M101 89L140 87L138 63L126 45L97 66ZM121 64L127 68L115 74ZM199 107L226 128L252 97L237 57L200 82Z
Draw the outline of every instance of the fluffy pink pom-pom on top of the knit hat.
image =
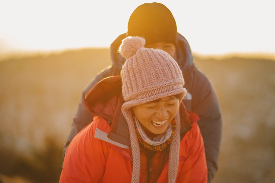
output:
M124 58L129 59L131 56L136 54L137 50L144 47L144 45L144 38L138 36L128 36L121 41L118 51Z

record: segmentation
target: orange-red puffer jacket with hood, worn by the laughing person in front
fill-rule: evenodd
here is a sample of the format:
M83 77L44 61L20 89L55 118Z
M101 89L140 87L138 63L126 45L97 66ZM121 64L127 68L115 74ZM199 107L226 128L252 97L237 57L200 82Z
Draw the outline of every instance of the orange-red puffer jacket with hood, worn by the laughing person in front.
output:
M124 102L120 79L119 76L104 79L87 93L84 102L87 110L95 115L94 121L74 137L66 150L60 183L131 182L132 155L128 126L120 110ZM198 117L187 112L183 103L180 105L180 117L180 162L176 182L206 183L207 166L196 122ZM159 162L162 161L163 153L155 153L150 167L152 172L161 166ZM168 161L159 174L150 176L149 182L167 182ZM147 168L148 158L141 151L140 183L147 182Z

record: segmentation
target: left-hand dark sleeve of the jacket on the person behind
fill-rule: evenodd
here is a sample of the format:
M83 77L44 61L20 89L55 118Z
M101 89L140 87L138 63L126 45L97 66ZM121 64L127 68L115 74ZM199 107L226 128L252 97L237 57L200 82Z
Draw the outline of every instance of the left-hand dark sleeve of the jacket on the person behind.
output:
M63 147L63 157L62 157L63 160L64 160L66 149L67 149L68 145L70 144L70 142L72 141L72 139L74 138L74 136L76 134L78 134L78 132L81 131L84 127L86 127L89 123L92 122L93 115L90 114L86 110L86 108L84 106L84 102L83 102L87 92L97 82L99 82L100 80L102 80L105 77L112 76L113 74L114 74L114 72L113 72L113 67L112 66L109 66L109 67L105 68L94 79L92 79L92 81L87 85L85 90L82 92L81 99L78 103L77 111L74 115L73 123L71 124L71 127L70 127L70 132L69 132L67 141L66 141L66 143L64 144L64 147Z

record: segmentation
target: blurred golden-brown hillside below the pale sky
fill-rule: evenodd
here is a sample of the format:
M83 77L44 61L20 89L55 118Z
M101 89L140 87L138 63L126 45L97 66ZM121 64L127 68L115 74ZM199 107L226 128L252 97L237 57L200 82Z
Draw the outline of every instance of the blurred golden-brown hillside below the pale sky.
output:
M194 62L220 100L223 136L213 183L275 182L275 61ZM109 49L0 62L0 182L58 182L62 146L82 90L111 64Z

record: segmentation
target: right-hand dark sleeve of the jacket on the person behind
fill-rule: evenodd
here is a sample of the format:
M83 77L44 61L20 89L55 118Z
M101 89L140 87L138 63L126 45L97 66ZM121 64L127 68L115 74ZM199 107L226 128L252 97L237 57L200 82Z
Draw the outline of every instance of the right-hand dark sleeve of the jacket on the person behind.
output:
M222 136L222 118L217 94L207 77L197 68L192 78L192 112L200 120L198 125L205 145L208 183L218 169L218 157Z

